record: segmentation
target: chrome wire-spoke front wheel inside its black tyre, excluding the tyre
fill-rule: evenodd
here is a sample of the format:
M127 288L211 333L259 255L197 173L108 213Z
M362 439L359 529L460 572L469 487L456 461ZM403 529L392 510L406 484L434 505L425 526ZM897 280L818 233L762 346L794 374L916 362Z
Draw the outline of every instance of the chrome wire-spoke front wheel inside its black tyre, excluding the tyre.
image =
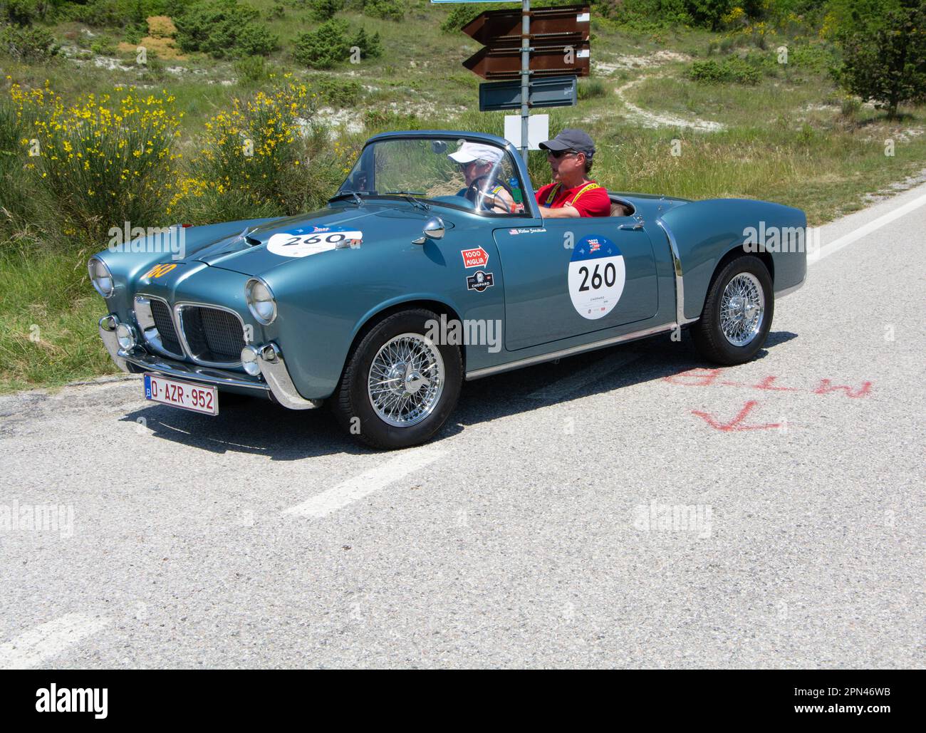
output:
M420 333L400 333L382 344L369 366L369 404L384 423L410 428L432 414L444 380L437 347Z

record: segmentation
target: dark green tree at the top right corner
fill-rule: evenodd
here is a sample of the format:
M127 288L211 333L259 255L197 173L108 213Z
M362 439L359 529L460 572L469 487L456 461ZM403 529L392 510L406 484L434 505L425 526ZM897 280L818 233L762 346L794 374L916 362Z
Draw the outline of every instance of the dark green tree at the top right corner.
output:
M899 0L879 21L837 35L843 66L836 77L896 118L897 106L926 102L926 0Z

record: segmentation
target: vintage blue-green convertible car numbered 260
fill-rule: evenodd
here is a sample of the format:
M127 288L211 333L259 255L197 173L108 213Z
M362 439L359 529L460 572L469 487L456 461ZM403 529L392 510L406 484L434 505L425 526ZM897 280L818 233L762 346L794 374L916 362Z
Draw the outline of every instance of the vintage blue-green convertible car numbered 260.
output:
M490 173L464 177L449 156L464 143L491 148ZM804 283L804 248L788 246L803 212L610 195L611 217L544 219L510 143L377 135L320 211L94 255L100 335L148 399L208 414L230 392L328 401L382 448L431 438L463 379L683 326L707 360L752 358L775 298Z

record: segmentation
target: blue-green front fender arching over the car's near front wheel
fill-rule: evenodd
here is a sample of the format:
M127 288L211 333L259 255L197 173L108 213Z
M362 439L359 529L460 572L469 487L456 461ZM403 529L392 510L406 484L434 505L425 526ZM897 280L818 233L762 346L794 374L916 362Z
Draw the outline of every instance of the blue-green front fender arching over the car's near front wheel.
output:
M493 287L483 292L468 289L473 270L464 267L460 254L474 242L489 253L494 272ZM498 262L484 222L457 223L440 242L413 244L404 237L305 257L264 274L278 317L263 335L279 344L302 396L325 399L341 379L360 329L395 305L430 301L464 320L503 319L503 274L492 267ZM484 346L467 349L472 368L489 366L494 358Z

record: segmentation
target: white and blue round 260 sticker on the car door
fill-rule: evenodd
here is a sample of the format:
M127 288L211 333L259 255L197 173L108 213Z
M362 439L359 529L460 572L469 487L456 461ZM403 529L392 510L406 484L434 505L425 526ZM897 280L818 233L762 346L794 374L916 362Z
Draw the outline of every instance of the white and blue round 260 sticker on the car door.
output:
M585 237L576 242L569 260L569 298L583 318L594 320L610 313L624 292L624 257L607 237Z

